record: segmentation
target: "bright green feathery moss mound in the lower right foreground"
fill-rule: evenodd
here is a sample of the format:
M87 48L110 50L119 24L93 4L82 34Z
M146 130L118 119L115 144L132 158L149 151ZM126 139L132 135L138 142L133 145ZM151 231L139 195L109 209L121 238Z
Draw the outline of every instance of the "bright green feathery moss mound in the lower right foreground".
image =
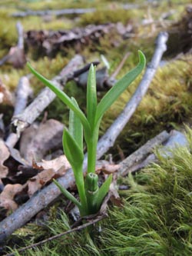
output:
M71 233L48 242L42 248L25 251L24 255L191 255L190 129L187 138L188 147L174 149L171 158L162 157L157 151L158 163L134 177L121 178L121 183L130 186L129 190L121 193L124 206L110 209L108 218L97 225L101 225L101 231L96 231L93 240L84 231ZM49 235L59 234L68 229L68 218L61 213L44 228L44 235L46 232ZM42 230L39 233L36 229L37 234L43 234Z

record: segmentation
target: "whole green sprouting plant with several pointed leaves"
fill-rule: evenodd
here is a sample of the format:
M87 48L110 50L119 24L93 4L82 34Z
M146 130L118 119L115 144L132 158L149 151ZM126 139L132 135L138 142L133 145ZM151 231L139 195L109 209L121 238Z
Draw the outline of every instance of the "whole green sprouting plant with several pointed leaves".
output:
M124 75L124 77L104 95L99 103L97 101L95 68L91 65L88 74L87 117L84 115L83 111L81 111L78 102L74 98L69 98L64 91L58 89L51 81L40 75L28 64L28 68L30 68L31 72L48 86L48 88L54 91L58 98L70 108L69 128L64 130L62 142L65 155L74 172L74 179L78 188L80 201L74 198L58 181L55 181L55 184L68 199L78 206L81 216L97 213L105 195L108 193L112 175L104 181L101 188L98 188L98 175L95 174L99 126L104 112L110 108L118 96L121 95L127 86L130 85L143 70L145 57L141 51L139 51L138 54L139 63L137 67ZM85 181L83 175L83 135L88 151L88 174L85 177Z

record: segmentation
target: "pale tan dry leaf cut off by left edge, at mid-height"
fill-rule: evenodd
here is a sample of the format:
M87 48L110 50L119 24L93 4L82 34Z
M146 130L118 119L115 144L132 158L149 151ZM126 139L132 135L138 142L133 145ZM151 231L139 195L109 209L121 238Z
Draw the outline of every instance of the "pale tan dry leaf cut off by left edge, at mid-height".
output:
M8 175L8 168L3 163L8 159L9 155L5 142L0 139L0 178L5 178Z

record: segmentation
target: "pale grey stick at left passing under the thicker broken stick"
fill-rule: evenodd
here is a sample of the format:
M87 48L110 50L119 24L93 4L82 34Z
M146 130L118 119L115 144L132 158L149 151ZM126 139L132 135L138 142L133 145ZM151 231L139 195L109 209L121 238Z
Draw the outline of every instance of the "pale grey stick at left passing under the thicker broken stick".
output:
M18 81L18 87L16 91L16 100L15 100L15 109L13 116L18 115L24 111L26 105L28 104L28 97L31 95L32 90L29 84L28 76L23 76ZM8 148L14 148L15 144L18 141L18 136L15 133L8 135L6 139L6 145Z

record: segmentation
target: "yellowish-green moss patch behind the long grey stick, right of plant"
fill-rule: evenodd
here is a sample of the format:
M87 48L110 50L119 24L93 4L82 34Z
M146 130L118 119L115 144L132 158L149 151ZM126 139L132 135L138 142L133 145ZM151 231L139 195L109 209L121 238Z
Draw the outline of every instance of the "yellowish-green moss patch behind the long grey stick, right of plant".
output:
M190 118L192 101L190 97L191 57L189 58L187 61L170 62L158 69L147 95L116 142L125 155L131 154L159 131L175 128ZM138 82L139 79L111 106L101 123L102 132L122 111L133 95ZM117 150L113 149L111 152L118 157Z

